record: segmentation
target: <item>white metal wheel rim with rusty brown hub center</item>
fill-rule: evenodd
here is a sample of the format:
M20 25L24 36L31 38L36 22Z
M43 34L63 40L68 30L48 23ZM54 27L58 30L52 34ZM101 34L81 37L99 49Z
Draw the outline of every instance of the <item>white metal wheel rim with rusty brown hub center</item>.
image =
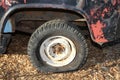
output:
M62 67L74 60L76 48L70 39L64 36L52 36L41 44L40 56L46 64Z

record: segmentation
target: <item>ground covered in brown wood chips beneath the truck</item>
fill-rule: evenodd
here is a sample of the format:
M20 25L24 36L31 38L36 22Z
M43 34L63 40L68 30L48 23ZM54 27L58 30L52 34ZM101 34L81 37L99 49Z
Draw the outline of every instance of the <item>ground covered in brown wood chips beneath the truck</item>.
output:
M120 40L98 48L90 44L86 64L67 73L44 74L36 70L27 55L30 35L16 33L6 54L0 55L0 80L120 80Z

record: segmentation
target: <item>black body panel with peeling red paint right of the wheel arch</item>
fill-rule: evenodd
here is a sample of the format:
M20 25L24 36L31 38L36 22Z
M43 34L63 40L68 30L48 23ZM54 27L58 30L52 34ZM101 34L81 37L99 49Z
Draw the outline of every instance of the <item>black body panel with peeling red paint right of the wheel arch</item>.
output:
M117 38L120 27L120 0L89 0L85 11L96 42L108 42ZM120 37L120 36L118 36Z

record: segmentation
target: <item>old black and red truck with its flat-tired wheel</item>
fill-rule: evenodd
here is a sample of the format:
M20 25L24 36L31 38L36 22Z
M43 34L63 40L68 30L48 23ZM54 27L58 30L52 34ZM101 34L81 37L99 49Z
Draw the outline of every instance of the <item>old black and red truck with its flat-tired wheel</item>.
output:
M0 53L19 30L32 34L27 51L38 70L77 70L88 54L82 29L103 45L120 38L119 22L120 0L0 0Z

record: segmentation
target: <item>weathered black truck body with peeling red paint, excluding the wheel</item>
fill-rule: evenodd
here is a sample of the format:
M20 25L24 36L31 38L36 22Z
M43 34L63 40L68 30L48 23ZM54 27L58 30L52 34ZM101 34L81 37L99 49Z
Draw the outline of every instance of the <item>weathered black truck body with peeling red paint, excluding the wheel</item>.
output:
M56 13L49 13L50 11ZM2 39L4 34L15 32L18 22L56 19L59 15L57 12L65 12L61 16L68 18L77 15L71 21L85 22L95 43L102 45L120 38L120 0L0 0L1 46L5 43ZM56 17L53 18L54 15ZM24 27L19 29L23 30Z

